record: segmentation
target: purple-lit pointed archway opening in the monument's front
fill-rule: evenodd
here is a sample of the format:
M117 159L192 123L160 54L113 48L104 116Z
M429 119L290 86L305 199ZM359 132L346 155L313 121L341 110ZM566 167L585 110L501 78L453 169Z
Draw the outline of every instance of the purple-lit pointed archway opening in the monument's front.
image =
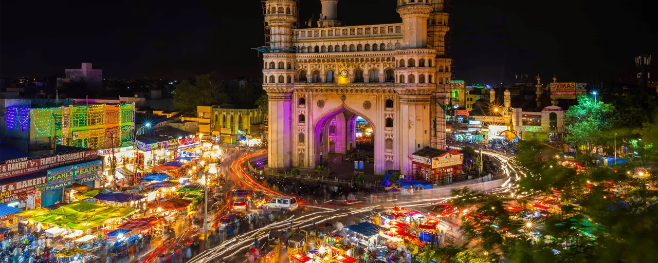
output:
M336 176L374 174L375 129L371 120L341 107L319 118L313 127L316 165L330 168ZM363 166L355 168L355 161L363 162Z

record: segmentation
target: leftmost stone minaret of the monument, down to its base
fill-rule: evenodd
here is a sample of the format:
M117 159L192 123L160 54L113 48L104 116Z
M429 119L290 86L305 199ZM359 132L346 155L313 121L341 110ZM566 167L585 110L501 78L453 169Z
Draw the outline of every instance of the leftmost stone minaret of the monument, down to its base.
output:
M270 27L270 51L263 53L263 89L269 98L268 162L270 168L290 168L292 78L295 53L292 47L292 28L297 21L294 0L268 0L265 22Z

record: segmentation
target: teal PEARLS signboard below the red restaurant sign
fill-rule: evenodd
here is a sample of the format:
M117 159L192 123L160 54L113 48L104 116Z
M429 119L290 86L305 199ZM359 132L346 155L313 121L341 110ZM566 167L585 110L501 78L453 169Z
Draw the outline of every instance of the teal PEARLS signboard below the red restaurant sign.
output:
M48 170L46 189L57 189L73 184L76 179L95 178L103 173L103 160L74 164Z

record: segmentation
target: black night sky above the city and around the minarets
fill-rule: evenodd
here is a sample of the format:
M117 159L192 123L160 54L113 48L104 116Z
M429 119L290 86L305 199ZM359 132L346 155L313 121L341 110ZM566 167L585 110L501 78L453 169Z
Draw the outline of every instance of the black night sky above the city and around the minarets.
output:
M0 14L0 76L63 74L80 62L106 78L261 76L262 60L251 49L264 41L257 0L17 2L3 3ZM396 2L341 0L338 18L345 25L401 22ZM651 2L453 0L453 79L508 83L539 73L548 82L556 73L562 82L632 80L634 57L658 55ZM320 1L301 0L300 8L300 20L317 18Z

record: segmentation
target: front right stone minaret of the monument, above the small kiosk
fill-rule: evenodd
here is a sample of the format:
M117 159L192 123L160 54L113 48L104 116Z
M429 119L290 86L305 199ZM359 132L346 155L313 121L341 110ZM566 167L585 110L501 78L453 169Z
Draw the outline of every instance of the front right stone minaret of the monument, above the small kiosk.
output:
M411 168L411 155L430 146L430 133L434 120L430 114L433 93L436 91L436 51L427 47L427 18L432 12L430 3L397 1L397 13L402 18L401 49L395 50L395 74L399 85L395 92L399 98L400 138L398 160L401 167ZM443 84L443 80L441 82ZM440 118L445 122L445 117ZM442 124L445 132L445 124ZM443 140L445 143L445 140ZM443 147L443 145L441 145ZM411 171L403 171L410 174Z

